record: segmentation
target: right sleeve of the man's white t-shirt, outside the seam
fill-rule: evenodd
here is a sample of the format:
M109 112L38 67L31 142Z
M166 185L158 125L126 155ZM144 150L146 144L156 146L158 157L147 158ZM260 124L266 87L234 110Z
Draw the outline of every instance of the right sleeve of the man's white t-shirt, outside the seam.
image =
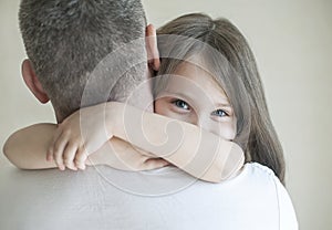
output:
M297 220L297 215L290 199L289 194L281 182L276 179L278 201L279 201L279 221L280 230L298 230L299 224Z

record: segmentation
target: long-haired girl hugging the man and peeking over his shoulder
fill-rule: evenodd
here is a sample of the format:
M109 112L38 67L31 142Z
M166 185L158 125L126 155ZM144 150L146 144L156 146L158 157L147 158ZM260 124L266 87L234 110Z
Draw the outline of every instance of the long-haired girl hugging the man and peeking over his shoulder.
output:
M204 128L200 130L203 135L196 135L197 129L194 126L177 123L184 132L183 143L179 149L176 149L176 153L180 151L181 154L165 153L169 149L155 147L165 140L165 135L157 135L159 133L155 127L164 127L173 119L153 114L145 115L144 119L148 121L148 125L144 126L144 134L147 139L154 140L156 144L146 145L142 143L142 139L138 142L138 139L131 138L133 135L127 136L127 134L135 133L135 129L129 130L134 126L123 124L122 118L124 113L131 114L132 118L136 114L136 117L139 118L141 112L128 105L108 103L106 105L108 121L105 126L108 133L107 138L86 134L86 139L83 139L80 129L80 114L75 113L55 130L48 158L51 159L53 156L56 165L62 169L64 169L64 165L72 169L75 169L76 166L84 168L86 159L84 147L87 149L87 155L92 154L101 149L102 145L114 135L157 156L164 154L163 158L180 166L196 177L209 181L220 181L231 175L235 176L242 163L241 151L237 145L234 143L230 145L229 142L225 142L226 139L242 147L246 161L257 161L268 166L283 182L282 149L268 114L253 55L241 33L226 20L211 21L206 15L190 14L160 28L158 35L162 65L158 76L154 81L155 112L198 125ZM180 76L166 76L165 74ZM91 114L91 119L84 119L87 122L86 126L91 134L103 132L101 126L96 125L98 121L93 117L97 117L96 114L101 113L101 109L104 112L104 108L105 105L98 105L81 109L81 114L84 112ZM139 119L137 119L138 122ZM54 127L46 128L44 125L44 129L40 133L41 129L37 132L37 128L34 130L32 127L14 134L6 146L7 156L10 158L10 156L27 151L29 148L35 153L44 153L46 149L43 146L24 143L24 137L31 134L37 137L48 137L45 145L51 143ZM70 132L72 132L71 135L69 135ZM169 137L175 135L178 136L176 133L168 133ZM13 146L10 143L22 143L22 145ZM193 143L199 143L200 146ZM217 148L216 143L221 143L221 147ZM122 147L121 149L129 148ZM219 154L220 150L217 149L222 149L222 154ZM188 161L193 161L196 155L199 156L199 151L204 151L204 159L209 160L203 166L197 164L199 160L188 166ZM167 155L165 156L165 154ZM91 155L91 157L93 156L96 155ZM228 159L228 156L231 157ZM215 157L218 160L212 160ZM227 160L229 164L225 164ZM75 161L75 166L73 166L73 161ZM110 165L112 166L112 164ZM222 176L220 168L224 170Z

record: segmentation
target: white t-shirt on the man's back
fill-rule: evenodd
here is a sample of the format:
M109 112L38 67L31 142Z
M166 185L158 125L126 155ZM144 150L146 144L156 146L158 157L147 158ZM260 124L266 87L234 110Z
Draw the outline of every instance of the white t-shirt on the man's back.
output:
M290 197L273 172L246 164L210 184L175 167L128 172L0 169L0 229L295 230Z

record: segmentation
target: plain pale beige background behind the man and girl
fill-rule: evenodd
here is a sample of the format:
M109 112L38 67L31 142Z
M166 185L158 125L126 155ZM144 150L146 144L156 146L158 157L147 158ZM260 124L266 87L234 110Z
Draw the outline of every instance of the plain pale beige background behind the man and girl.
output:
M300 229L331 229L332 1L143 0L143 3L148 21L156 27L184 13L206 12L229 19L242 31L256 55L270 114L284 148L287 188ZM55 121L50 104L39 104L21 77L20 65L25 53L18 28L18 0L0 1L1 146L20 127ZM0 167L8 164L1 155Z

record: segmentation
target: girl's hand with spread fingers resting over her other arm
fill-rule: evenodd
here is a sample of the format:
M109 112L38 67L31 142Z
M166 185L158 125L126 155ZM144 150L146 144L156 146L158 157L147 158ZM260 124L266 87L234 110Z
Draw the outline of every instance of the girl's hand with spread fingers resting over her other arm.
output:
M46 159L54 159L60 170L85 169L87 156L112 138L105 129L104 108L105 104L81 108L65 118L54 133Z

